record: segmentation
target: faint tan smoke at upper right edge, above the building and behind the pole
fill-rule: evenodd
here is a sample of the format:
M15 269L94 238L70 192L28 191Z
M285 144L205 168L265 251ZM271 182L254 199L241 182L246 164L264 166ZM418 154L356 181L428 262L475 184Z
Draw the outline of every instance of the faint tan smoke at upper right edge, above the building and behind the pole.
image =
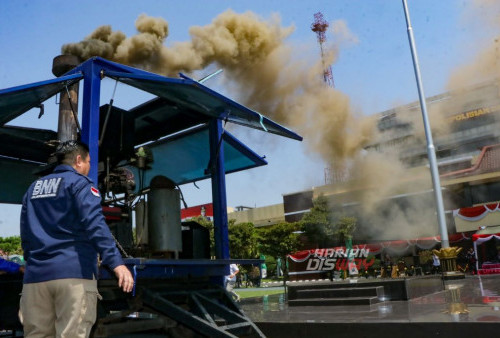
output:
M466 112L471 109L487 107L485 99L488 95L478 92L471 96L471 86L485 82L497 82L500 85L500 35L491 34L500 28L500 2L496 0L473 0L463 4L462 26L464 30L476 30L475 39L465 41L463 53L477 51L472 60L464 60L463 64L452 71L446 86L447 95L436 102L427 102L428 117L434 139L436 136L450 132L448 117L452 114ZM488 40L481 40L488 36ZM491 36L493 36L491 38ZM471 106L471 102L474 105ZM398 117L413 125L417 142L425 144L425 134L420 107L400 106L396 108Z

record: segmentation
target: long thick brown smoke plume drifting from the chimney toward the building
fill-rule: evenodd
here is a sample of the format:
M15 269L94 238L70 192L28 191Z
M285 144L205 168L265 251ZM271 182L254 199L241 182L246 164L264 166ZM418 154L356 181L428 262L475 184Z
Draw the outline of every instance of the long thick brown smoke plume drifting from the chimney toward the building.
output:
M345 22L331 26L339 44L358 42ZM363 153L363 147L374 140L376 118L354 111L347 95L324 84L319 51L316 59L305 59L301 58L303 50L287 43L293 27L282 27L278 17L265 21L251 12L228 10L208 25L191 27L190 41L170 47L165 46L169 30L162 18L141 15L136 28L136 35L126 37L102 26L83 41L64 45L62 52L82 59L102 56L166 76L210 65L223 68L238 101L296 130L310 151L321 154L335 170L348 172L363 188L357 201L370 224L382 225L371 229L378 231L380 238L435 234L436 216L428 206L425 210L416 204L412 208L394 207L390 214L380 214L384 198L428 189L428 169L419 174L427 183L420 180L411 187L411 174L397 154ZM338 52L335 48L326 50L325 63L334 62ZM421 124L419 115L414 122Z

